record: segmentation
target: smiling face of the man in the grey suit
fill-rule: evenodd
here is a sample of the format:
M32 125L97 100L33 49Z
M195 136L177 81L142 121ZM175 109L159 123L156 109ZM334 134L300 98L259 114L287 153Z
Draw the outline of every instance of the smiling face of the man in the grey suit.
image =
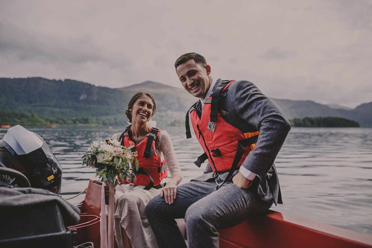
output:
M209 82L208 75L211 73L211 67L196 63L193 59L180 64L177 67L177 75L183 88L190 94L201 99L205 99L208 93Z

